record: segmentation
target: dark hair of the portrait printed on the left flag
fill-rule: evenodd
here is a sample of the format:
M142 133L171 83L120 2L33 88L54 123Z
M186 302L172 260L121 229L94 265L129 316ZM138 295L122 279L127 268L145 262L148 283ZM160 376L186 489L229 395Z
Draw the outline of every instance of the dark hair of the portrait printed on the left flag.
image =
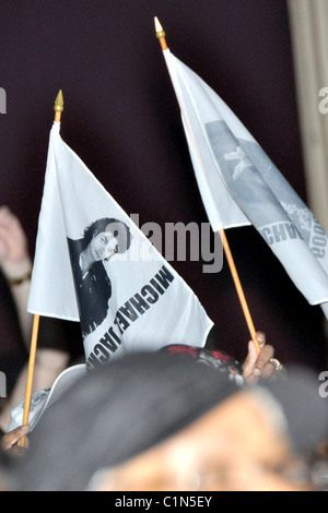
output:
M117 238L119 253L125 253L130 248L132 236L128 225L114 217L103 217L85 228L83 238L81 239L81 250L86 249L92 239L103 231L110 231L110 234Z

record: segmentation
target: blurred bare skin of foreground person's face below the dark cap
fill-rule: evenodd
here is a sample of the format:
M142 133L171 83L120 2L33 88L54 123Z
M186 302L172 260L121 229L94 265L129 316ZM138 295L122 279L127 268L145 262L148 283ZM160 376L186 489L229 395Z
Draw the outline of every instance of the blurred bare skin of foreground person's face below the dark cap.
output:
M160 444L99 469L92 491L296 491L301 460L266 397L241 391ZM302 465L303 470L303 465ZM298 475L297 475L298 477Z

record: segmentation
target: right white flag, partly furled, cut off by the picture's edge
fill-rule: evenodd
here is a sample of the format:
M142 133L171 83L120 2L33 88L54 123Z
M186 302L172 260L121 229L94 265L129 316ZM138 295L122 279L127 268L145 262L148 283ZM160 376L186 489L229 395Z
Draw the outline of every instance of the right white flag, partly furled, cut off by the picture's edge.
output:
M213 230L250 222L298 290L311 305L321 303L328 318L325 229L216 93L169 50L163 53Z

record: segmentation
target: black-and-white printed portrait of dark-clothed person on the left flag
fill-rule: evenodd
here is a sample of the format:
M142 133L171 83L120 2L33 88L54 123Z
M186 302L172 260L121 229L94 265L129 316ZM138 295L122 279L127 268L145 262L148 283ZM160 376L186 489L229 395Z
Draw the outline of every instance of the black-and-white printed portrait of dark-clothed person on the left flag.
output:
M104 217L87 226L79 240L68 238L82 335L85 338L104 321L112 297L112 282L103 262L131 246L130 228Z

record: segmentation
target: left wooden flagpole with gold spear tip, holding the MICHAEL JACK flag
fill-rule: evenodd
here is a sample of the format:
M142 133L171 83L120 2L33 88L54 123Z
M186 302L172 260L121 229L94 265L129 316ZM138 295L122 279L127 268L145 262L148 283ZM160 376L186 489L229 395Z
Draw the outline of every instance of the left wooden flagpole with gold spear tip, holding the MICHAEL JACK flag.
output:
M63 97L62 97L61 90L59 91L59 93L57 95L54 110L55 110L55 121L59 123L60 120L61 120L61 112L63 110ZM25 403L24 403L24 414L23 414L23 426L26 426L28 423L28 418L30 418L30 408L31 408L31 401L32 401L32 390L33 390L33 379L34 379L34 370L35 370L38 329L39 329L39 315L34 314L32 337L31 337L28 370L27 370L26 392L25 392ZM20 444L20 446L25 448L26 446L26 437L23 437L20 440L19 444Z

